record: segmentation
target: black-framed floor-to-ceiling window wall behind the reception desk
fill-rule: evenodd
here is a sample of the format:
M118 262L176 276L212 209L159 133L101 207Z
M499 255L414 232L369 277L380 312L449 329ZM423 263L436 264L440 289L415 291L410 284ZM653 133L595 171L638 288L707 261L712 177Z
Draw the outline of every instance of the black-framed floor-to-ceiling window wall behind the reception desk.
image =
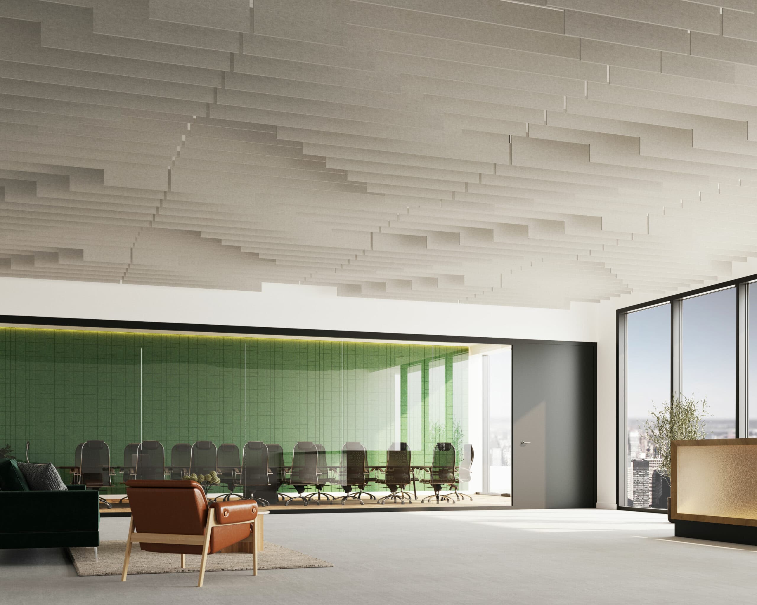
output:
M618 505L667 508L644 425L677 395L706 400L706 439L757 437L755 322L754 275L618 311Z

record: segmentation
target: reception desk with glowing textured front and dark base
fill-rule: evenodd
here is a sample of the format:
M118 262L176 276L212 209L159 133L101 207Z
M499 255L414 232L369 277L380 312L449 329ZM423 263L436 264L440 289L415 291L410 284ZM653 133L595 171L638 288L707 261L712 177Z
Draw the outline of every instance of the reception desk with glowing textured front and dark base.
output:
M675 535L757 545L757 439L671 442Z

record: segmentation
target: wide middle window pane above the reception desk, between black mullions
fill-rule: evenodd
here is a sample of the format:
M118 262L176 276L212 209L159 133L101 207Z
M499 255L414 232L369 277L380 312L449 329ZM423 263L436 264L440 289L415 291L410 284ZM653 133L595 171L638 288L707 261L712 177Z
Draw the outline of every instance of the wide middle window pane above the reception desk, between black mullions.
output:
M706 400L707 439L736 436L736 288L681 302L681 394Z

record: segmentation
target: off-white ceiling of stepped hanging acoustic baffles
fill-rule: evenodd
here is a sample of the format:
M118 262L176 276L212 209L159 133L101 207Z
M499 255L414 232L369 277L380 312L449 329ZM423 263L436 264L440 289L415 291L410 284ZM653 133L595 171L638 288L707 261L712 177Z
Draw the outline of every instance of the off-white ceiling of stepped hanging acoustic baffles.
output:
M662 295L757 256L755 126L757 0L4 0L0 275Z

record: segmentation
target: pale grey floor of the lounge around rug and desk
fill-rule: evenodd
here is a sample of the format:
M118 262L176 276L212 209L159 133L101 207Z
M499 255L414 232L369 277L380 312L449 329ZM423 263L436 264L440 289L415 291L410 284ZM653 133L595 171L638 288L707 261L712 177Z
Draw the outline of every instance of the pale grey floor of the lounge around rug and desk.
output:
M332 569L79 578L61 549L0 551L0 603L755 603L757 548L672 538L664 515L495 510L269 515ZM101 539L128 519L103 520Z

